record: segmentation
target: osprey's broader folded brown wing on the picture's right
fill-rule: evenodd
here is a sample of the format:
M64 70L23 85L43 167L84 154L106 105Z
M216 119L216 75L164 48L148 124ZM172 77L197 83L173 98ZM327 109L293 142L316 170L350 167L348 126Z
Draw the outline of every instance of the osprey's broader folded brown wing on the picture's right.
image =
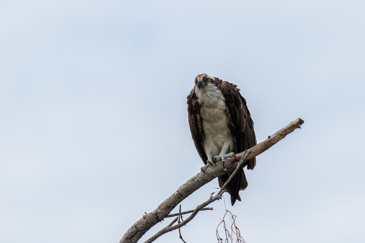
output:
M235 151L233 152L241 153L257 144L251 114L237 85L222 81L220 90L226 99L228 126L235 139ZM253 169L255 165L256 158L247 161L247 169Z

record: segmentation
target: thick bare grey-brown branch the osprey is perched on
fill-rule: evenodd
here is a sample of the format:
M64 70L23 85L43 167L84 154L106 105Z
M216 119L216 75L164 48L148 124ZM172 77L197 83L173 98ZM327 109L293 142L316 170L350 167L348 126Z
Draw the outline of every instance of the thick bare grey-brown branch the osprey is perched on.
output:
M304 121L300 118L297 118L295 121L290 122L287 126L278 130L276 133L272 134L265 141L262 141L256 146L250 148L249 150L251 151L251 153L246 157L246 159L249 160L250 158L253 158L261 154L265 150L269 149L271 146L276 144L278 141L282 140L289 133L293 132L296 128L300 128L300 125L303 123ZM226 160L225 162L226 168L227 169L235 168L237 166L238 161L243 156L243 154L244 154L243 152L237 154L235 160L232 161ZM217 164L221 165L222 163L218 162ZM193 176L187 182L185 182L183 185L177 188L177 191L174 192L171 196L169 196L160 205L158 205L158 207L153 212L143 215L141 219L139 219L127 230L127 232L123 235L119 243L136 243L152 226L154 226L162 219L164 219L167 215L169 215L172 209L174 209L182 200L184 200L186 197L191 195L193 192L195 192L203 185L207 184L209 181L213 180L215 177L221 176L224 173L225 171L222 170L222 166L207 168L205 170L205 173L199 172L197 175ZM205 206L201 208L204 207ZM184 222L186 220L184 220Z

